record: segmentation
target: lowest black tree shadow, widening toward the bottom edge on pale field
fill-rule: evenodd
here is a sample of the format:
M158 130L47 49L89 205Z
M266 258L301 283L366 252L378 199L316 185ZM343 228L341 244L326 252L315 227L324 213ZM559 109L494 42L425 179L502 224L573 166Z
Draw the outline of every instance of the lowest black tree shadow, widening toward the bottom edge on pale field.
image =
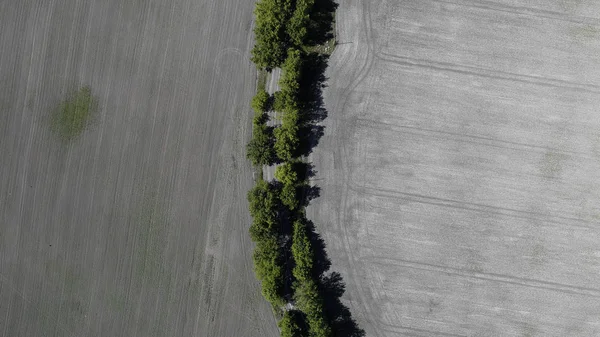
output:
M331 260L327 256L325 242L315 231L314 223L307 221L309 238L314 248L315 265L314 279L317 280L319 291L323 298L324 309L327 319L331 323L333 336L336 337L363 337L365 331L362 330L356 321L352 318L350 309L345 306L340 298L346 291L346 285L342 275L338 272L331 272Z

